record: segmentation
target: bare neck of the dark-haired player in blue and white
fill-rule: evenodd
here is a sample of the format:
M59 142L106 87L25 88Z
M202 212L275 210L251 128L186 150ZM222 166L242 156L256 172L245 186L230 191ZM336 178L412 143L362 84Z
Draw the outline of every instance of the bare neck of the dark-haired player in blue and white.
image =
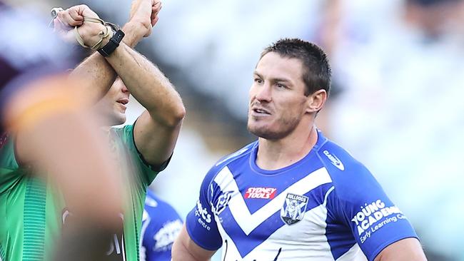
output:
M259 138L256 165L264 170L285 168L308 155L317 140L315 126L311 126L310 131L296 131L280 140Z

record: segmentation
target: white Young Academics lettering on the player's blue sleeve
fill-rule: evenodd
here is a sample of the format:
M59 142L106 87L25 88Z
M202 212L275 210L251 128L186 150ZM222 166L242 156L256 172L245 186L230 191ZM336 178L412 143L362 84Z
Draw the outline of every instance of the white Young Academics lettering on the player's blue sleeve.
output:
M372 203L365 203L360 207L361 210L351 219L358 230L360 242L368 240L373 233L386 225L405 220L406 217L395 205L387 207L382 200L375 200Z

